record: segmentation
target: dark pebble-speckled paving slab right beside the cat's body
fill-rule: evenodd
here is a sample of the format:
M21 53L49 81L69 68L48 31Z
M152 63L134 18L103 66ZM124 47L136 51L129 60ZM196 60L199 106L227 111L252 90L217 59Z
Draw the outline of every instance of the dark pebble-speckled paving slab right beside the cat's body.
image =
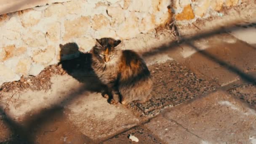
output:
M149 66L154 83L152 99L136 104L146 115L156 115L160 108L172 107L216 89L176 61Z

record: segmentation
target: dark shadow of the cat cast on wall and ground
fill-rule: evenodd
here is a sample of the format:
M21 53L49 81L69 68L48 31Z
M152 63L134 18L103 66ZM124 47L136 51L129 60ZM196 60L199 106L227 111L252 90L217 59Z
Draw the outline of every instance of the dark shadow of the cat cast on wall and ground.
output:
M59 46L61 48L59 64L62 65L62 69L83 83L84 91L101 93L102 96L107 94L107 86L101 83L91 67L91 53L80 52L76 43L60 44Z

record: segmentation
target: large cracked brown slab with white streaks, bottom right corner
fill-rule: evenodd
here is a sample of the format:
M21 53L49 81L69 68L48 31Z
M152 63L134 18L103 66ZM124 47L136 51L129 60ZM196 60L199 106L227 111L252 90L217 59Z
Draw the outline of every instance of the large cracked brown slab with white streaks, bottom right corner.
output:
M216 91L168 109L145 126L169 144L250 144L256 138L255 121L255 110Z

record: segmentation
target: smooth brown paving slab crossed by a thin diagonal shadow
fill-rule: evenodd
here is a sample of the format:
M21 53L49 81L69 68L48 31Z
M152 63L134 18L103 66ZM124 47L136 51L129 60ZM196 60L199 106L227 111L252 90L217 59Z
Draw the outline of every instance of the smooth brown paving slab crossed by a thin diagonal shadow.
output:
M232 36L220 35L219 39L228 39ZM235 42L214 42L204 51L197 52L188 57L184 65L192 72L202 74L205 79L228 85L239 79L247 79L246 72L256 70L256 49L240 40Z

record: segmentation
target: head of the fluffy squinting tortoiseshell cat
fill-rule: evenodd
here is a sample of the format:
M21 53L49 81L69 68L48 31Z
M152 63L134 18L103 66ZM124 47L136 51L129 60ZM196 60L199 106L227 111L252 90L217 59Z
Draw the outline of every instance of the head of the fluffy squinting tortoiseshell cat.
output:
M117 49L116 46L121 43L121 40L104 37L96 39L96 41L97 43L93 47L92 53L100 62L109 63L118 57L119 49Z

